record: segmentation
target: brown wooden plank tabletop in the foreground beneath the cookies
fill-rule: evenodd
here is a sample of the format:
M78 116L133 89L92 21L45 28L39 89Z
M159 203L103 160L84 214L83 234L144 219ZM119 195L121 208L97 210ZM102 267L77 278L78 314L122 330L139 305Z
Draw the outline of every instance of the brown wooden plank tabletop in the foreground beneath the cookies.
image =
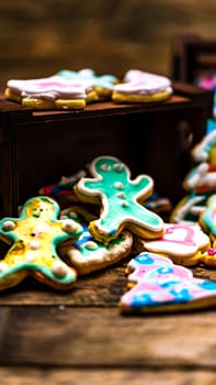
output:
M122 316L125 264L69 293L29 280L1 294L0 383L214 385L215 309ZM194 274L216 280L216 271Z

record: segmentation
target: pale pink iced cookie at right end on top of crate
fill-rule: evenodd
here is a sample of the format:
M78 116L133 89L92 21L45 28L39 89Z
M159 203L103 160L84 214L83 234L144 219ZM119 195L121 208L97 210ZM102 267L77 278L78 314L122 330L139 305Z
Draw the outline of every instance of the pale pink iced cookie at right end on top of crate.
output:
M114 86L112 99L117 102L152 102L172 94L169 78L138 69L128 70L123 82Z

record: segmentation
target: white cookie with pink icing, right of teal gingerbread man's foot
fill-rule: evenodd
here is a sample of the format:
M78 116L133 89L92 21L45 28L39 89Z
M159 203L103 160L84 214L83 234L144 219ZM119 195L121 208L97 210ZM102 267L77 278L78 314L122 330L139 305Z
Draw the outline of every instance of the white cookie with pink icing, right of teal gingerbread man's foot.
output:
M174 263L193 266L202 261L202 253L211 246L209 237L198 224L164 223L164 233L157 240L137 239L138 252L147 250L170 257Z

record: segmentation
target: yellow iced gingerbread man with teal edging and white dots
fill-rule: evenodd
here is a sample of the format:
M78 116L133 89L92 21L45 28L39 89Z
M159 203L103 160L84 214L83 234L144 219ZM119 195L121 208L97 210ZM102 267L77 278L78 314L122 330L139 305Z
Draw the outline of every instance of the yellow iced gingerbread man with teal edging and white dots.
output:
M25 202L19 218L0 221L0 238L12 246L0 261L0 290L15 286L32 275L56 289L70 288L77 272L57 254L57 245L81 233L78 222L58 220L59 206L48 197Z

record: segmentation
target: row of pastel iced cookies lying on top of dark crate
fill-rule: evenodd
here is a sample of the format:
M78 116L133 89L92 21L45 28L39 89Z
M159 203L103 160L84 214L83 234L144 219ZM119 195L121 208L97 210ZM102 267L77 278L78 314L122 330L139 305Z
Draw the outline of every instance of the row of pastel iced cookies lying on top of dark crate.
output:
M4 95L34 110L83 110L88 103L155 102L172 95L169 78L139 69L129 69L123 77L96 75L91 68L59 70L36 79L10 79Z

